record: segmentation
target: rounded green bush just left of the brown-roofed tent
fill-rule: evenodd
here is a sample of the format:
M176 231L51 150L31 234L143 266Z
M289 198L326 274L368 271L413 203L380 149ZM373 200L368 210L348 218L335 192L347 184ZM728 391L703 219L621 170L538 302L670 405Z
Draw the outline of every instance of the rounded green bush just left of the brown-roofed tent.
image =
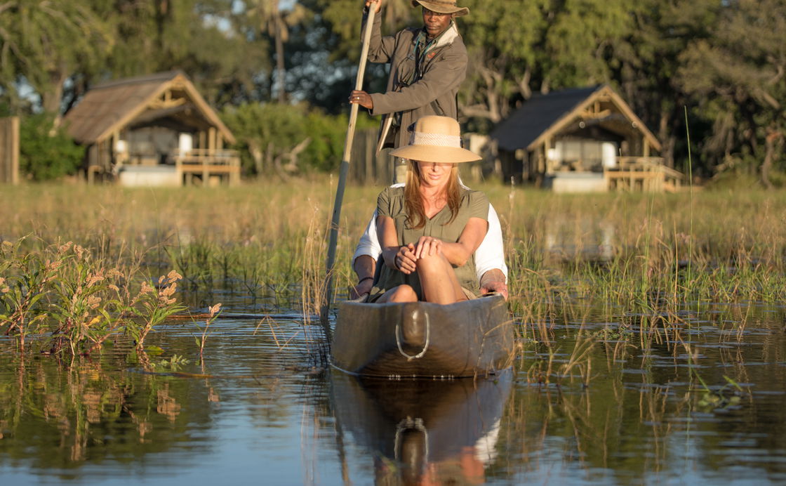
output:
M53 129L53 116L26 116L20 121L20 171L34 181L75 174L85 149L76 145L63 127Z

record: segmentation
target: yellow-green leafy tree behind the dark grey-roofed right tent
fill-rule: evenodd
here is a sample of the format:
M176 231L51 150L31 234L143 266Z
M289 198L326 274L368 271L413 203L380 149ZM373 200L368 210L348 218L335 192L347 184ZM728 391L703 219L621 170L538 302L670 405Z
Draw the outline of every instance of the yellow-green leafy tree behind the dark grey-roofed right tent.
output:
M608 57L632 22L632 0L507 0L462 3L470 54L462 87L467 116L497 123L533 91L610 81Z

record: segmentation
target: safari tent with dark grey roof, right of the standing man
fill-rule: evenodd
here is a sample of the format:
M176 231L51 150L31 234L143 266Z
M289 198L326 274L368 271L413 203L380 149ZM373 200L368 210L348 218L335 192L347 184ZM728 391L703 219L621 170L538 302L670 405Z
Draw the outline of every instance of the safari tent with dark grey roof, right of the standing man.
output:
M559 192L678 190L682 175L606 85L535 95L490 134L506 180Z

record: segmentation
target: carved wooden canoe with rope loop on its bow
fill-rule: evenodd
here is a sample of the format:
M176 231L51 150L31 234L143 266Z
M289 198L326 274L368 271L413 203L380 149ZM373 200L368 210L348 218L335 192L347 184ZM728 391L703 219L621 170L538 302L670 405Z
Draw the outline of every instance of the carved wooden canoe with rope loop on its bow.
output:
M486 376L512 365L513 326L499 294L456 304L339 305L331 364L375 377Z

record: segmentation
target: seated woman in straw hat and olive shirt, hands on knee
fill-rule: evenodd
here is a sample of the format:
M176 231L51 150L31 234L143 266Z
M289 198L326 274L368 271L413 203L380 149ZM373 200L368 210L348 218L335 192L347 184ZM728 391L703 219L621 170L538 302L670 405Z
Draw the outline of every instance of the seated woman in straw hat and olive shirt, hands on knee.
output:
M410 144L391 152L409 160L406 184L376 201L380 276L369 302L453 304L479 292L475 250L488 229L487 197L461 186L457 164L480 157L461 148L458 122L424 116Z

